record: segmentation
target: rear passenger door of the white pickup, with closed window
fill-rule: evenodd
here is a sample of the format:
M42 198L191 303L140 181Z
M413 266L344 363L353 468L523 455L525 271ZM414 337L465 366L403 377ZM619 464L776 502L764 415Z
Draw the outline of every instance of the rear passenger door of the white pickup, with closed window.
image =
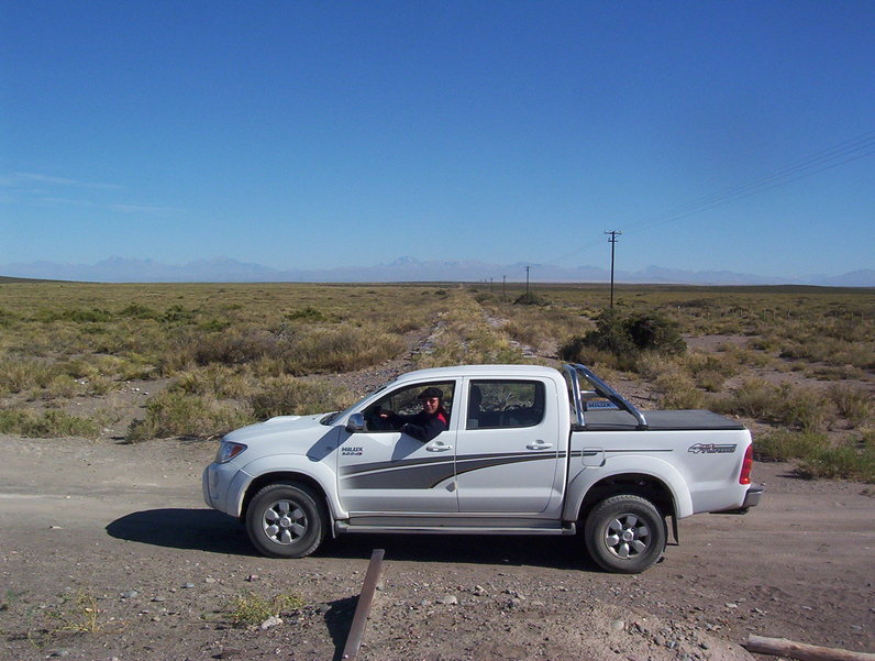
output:
M562 500L554 390L535 378L465 379L456 436L461 513L552 516Z

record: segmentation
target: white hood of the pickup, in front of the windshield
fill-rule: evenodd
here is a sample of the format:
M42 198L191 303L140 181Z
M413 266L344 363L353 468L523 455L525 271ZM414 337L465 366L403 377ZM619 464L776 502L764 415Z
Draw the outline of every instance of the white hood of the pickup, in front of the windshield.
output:
M258 454L307 454L314 443L334 431L333 427L319 423L325 415L277 416L257 425L235 429L222 440L245 444L250 459Z

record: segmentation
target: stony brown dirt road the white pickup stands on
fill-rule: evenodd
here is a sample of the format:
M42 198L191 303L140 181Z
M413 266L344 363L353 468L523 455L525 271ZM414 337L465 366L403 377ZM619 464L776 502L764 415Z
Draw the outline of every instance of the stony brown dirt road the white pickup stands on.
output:
M744 659L749 632L875 651L875 488L760 464L763 504L680 522L638 576L568 538L350 536L255 555L206 509L215 443L0 437L0 658L339 659L374 548L362 659ZM236 602L293 593L281 625Z

